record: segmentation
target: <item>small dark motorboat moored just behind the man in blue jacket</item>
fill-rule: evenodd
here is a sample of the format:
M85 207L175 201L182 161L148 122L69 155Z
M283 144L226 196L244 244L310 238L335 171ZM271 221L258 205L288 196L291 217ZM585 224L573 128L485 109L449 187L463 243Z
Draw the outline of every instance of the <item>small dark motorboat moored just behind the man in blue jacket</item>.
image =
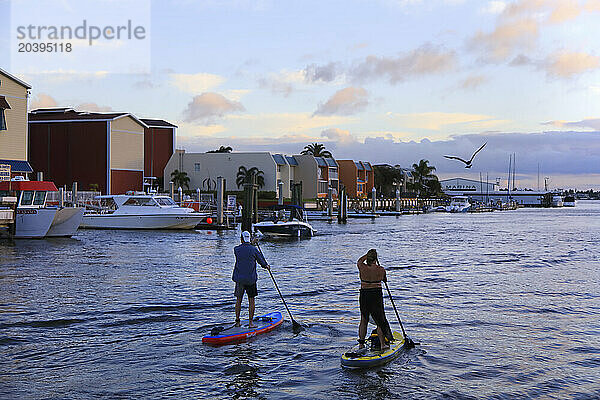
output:
M308 238L315 235L316 231L308 223L303 207L276 205L271 209L272 219L254 224L254 230L267 237ZM286 212L289 213L287 218Z

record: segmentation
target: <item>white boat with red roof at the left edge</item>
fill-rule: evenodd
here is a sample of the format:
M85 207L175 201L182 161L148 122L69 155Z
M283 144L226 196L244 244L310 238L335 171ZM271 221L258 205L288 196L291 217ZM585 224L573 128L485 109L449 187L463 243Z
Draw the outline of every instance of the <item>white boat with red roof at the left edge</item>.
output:
M49 191L58 190L54 183L28 181L15 177L10 182L0 182L0 196L12 193L17 197L15 239L40 239L46 236L58 211L46 206Z

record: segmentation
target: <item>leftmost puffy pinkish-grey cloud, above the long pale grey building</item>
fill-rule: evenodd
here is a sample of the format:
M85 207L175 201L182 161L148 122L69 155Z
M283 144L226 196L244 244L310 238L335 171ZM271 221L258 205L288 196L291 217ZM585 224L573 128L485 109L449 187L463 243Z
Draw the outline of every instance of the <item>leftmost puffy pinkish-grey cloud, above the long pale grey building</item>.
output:
M218 93L206 92L194 96L183 112L185 122L201 122L213 125L213 120L225 114L245 111L242 103L228 100Z

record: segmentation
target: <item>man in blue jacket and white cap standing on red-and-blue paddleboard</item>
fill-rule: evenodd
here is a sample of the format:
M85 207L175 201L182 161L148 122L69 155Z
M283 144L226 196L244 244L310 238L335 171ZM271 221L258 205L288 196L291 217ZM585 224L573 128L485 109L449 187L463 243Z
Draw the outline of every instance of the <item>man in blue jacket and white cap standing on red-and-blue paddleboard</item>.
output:
M262 253L250 242L250 232L244 231L241 236L242 244L233 249L235 254L235 267L233 268L233 276L231 279L235 282L235 326L240 326L240 311L242 309L242 299L244 292L248 294L248 314L250 323L249 328L256 328L253 323L254 319L254 298L258 294L256 281L256 263L261 267L270 269L269 264L263 257Z

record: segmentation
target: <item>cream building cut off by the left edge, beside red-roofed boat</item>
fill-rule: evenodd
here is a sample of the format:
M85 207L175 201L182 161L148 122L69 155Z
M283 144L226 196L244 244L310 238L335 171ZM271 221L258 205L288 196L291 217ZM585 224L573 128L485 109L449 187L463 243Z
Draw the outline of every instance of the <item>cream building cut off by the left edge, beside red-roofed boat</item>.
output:
M11 173L33 172L27 162L27 106L31 86L0 69L0 164L11 166Z

